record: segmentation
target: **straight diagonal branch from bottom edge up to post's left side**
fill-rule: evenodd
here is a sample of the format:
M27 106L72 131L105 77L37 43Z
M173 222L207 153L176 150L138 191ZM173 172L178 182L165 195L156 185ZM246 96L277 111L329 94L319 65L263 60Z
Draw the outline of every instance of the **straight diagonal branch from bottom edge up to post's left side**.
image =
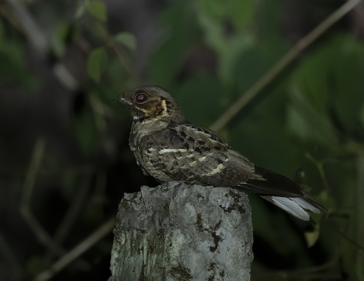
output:
M34 281L46 281L52 278L60 270L85 253L100 239L109 234L116 225L116 219L111 218L100 226L94 233L78 244L74 249L56 261L49 269L35 277Z

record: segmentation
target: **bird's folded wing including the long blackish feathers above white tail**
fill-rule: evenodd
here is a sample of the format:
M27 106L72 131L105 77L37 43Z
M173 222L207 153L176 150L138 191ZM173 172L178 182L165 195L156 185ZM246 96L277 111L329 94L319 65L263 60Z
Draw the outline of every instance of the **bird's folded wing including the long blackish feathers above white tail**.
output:
M300 186L283 175L249 162L215 132L193 124L174 124L145 141L151 175L239 187L242 191L281 197L303 197ZM161 180L162 181L162 180Z

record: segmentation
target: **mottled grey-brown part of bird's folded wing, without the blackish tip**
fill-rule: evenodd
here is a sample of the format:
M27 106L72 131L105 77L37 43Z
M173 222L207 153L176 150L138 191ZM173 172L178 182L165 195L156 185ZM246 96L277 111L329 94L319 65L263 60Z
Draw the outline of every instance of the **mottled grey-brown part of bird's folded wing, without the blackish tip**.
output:
M254 173L254 165L215 132L174 124L143 140L151 175L213 186L234 186Z

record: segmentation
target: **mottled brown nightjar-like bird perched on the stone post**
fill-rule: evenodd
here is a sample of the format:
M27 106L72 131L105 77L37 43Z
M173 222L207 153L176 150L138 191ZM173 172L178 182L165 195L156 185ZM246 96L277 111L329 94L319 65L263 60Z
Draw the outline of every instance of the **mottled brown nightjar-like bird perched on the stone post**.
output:
M184 117L177 101L159 86L126 91L113 100L132 113L129 146L143 174L158 182L232 187L257 193L302 220L324 207L283 175L254 165L216 132Z

